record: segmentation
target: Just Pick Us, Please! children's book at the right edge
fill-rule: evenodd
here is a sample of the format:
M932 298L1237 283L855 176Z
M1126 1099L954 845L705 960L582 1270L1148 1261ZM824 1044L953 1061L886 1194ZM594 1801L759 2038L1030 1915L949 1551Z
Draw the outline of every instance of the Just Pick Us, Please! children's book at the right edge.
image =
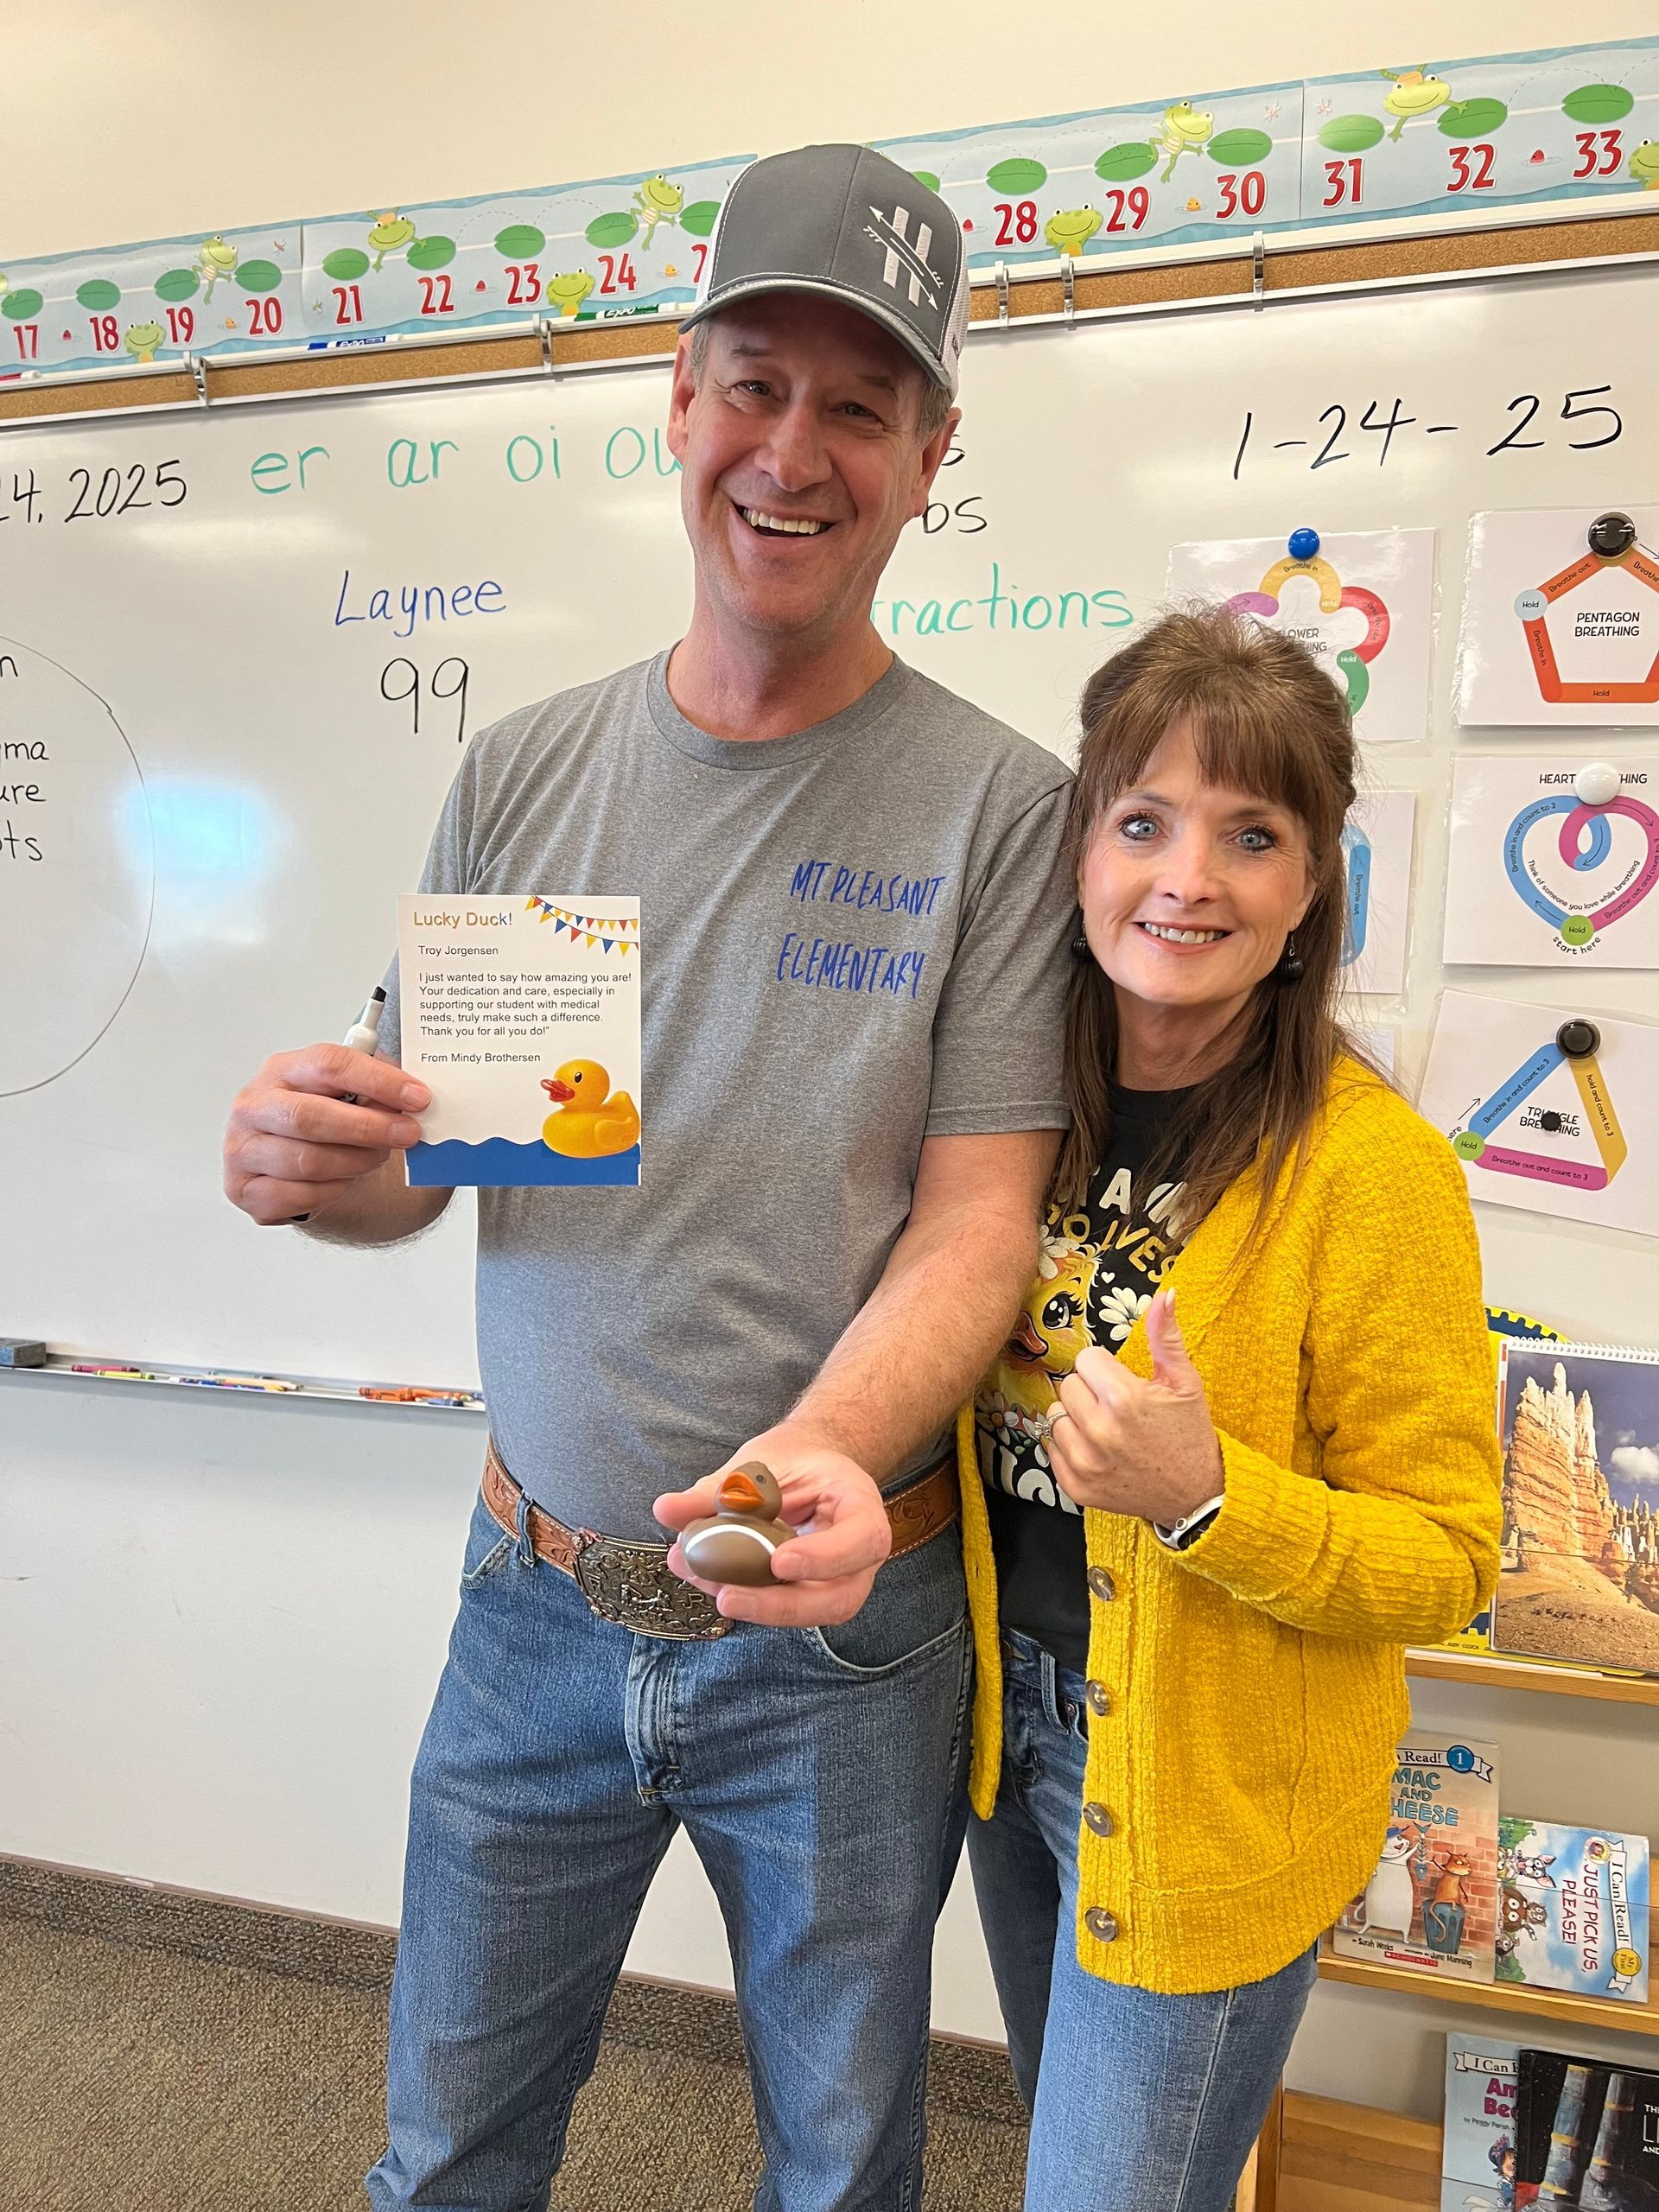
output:
M1648 1838L1498 1820L1498 1980L1648 2000Z

